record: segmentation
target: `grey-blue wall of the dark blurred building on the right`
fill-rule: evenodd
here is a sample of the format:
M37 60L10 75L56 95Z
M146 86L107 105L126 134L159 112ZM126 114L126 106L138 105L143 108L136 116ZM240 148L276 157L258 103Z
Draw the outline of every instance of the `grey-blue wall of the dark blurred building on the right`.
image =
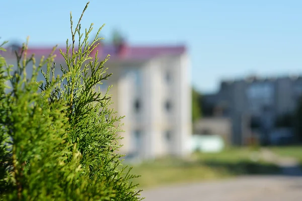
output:
M251 87L254 87L254 89L251 89ZM269 88L271 89L267 90ZM256 90L256 92L251 92L251 90ZM257 95L254 97L252 93L257 93ZM271 97L269 96L270 93ZM274 120L279 115L291 113L295 110L297 100L301 94L302 77L249 78L229 82L223 81L218 93L210 97L215 97L215 100L211 100L215 106L226 102L227 107L222 116L231 118L233 144L242 145L251 132L247 128L249 118L254 116L261 119L264 128L271 132L274 127ZM267 111L263 111L263 106L268 106Z

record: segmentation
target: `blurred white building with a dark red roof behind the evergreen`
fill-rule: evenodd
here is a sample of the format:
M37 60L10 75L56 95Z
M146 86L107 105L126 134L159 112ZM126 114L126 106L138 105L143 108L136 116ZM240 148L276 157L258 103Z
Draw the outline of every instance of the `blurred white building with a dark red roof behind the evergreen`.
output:
M38 58L48 55L51 49L30 48L29 53ZM126 116L120 151L143 159L186 155L191 136L191 80L185 47L122 44L99 46L98 50L101 59L111 55L105 67L113 75L103 89L113 85L112 107L119 116ZM61 63L59 51L55 54L55 61Z

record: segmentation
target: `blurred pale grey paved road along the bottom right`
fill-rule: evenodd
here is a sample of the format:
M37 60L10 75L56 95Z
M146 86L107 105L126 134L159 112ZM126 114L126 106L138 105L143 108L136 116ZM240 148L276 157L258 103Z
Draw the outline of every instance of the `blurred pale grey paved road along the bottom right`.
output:
M145 190L151 201L295 201L302 200L301 176L247 176Z

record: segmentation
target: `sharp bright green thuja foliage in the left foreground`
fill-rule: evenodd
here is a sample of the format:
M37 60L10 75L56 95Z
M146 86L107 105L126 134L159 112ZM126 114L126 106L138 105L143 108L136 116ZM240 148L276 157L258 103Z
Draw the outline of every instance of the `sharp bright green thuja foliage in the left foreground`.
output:
M54 73L55 48L36 65L24 44L16 53L16 70L0 55L2 200L140 200L140 190L129 181L137 176L121 167L117 153L121 125L116 123L122 117L109 109L110 87L105 94L97 88L110 76L104 67L108 57L99 62L98 53L91 56L100 38L88 42L92 25L81 34L82 16L73 30L70 14L72 43L67 40L66 52L61 51L60 75ZM37 81L40 71L44 82Z

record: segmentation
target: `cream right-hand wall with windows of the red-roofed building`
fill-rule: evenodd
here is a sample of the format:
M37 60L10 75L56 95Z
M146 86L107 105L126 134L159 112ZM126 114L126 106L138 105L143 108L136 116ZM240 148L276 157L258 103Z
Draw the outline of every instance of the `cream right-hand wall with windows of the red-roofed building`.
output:
M144 67L146 157L185 154L191 122L186 55L159 57ZM167 77L168 76L168 77ZM169 105L169 107L167 107ZM147 148L148 147L148 148Z

